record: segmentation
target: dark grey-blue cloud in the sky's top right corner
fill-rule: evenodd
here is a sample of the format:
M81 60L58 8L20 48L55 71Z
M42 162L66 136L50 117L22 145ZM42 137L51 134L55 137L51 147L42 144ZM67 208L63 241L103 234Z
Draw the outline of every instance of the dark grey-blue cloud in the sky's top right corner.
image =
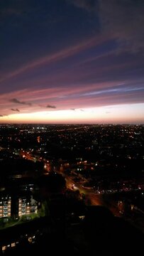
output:
M109 33L118 50L136 53L144 50L143 0L67 0L78 8L99 16L100 33Z

